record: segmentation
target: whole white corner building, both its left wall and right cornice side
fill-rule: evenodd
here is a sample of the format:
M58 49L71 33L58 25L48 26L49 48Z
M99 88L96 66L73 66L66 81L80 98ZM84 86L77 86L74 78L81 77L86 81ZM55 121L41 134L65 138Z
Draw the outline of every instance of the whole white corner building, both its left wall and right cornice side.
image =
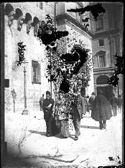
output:
M4 6L6 7L6 4ZM49 14L55 21L55 25L59 30L69 31L69 38L72 41L71 46L65 43L65 50L69 52L74 44L85 44L86 48L92 51L91 33L86 31L82 25L81 17L78 14L72 16L67 12L71 6L83 6L83 3L71 2L21 2L10 3L14 11L17 9L22 11L22 15L14 19L9 25L9 16L5 14L5 79L9 79L9 87L5 88L5 110L22 113L24 110L24 64L17 66L19 59L18 42L26 45L26 100L29 113L39 110L39 99L46 90L50 90L50 83L46 78L46 50L45 45L35 36L34 30L37 27L31 25L34 18L39 21L45 19ZM86 4L84 4L86 5ZM30 14L31 18L28 22L22 24L19 30L19 21L21 17ZM61 18L61 19L60 19ZM30 26L31 25L31 26ZM88 28L89 29L89 28ZM28 32L29 31L29 32ZM74 40L75 39L75 40ZM91 69L91 80L86 88L86 94L90 95L94 90L93 85L93 69ZM15 94L15 97L13 95Z

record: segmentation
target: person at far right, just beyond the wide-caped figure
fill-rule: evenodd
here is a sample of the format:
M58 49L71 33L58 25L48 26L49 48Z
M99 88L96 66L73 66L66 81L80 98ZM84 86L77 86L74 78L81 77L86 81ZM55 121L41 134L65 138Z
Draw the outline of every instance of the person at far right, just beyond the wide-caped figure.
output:
M117 116L118 99L115 97L114 93L109 101L112 106L113 115Z

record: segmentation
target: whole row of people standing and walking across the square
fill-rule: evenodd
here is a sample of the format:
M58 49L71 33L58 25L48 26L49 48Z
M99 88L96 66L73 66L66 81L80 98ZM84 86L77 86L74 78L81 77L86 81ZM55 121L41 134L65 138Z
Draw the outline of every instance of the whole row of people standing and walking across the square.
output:
M61 110L66 110L62 99L63 97L60 96L58 101L54 102L49 91L46 91L46 98L44 95L40 98L40 110L43 111L46 122L46 136L54 134L60 134L64 138L69 136L68 118L55 120L53 115L54 104L63 107ZM99 122L100 129L106 129L106 121L113 115L117 115L117 108L122 108L121 97L118 99L113 94L111 99L107 100L101 90L97 92L97 95L93 92L88 99L88 104L86 102L85 90L81 89L80 94L76 96L76 101L71 103L70 116L75 129L75 140L78 140L80 136L80 122L86 111L91 111L91 117Z

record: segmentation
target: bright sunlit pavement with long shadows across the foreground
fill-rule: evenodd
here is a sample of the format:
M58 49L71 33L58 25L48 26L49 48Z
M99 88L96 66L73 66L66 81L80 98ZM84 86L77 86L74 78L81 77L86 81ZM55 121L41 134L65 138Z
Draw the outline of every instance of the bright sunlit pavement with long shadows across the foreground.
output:
M98 167L122 164L122 113L107 121L105 130L87 113L81 121L81 135L46 137L43 112L30 115L6 114L5 140L8 156L4 168ZM11 156L11 157L10 157Z

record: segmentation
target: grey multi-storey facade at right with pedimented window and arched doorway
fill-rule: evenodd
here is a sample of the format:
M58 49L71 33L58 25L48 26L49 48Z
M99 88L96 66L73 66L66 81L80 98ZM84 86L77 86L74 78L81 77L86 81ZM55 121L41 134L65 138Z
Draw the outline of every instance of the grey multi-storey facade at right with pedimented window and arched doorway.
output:
M94 62L94 90L102 89L107 98L112 92L122 94L123 77L119 75L119 86L107 84L114 72L115 55L123 55L123 4L105 2L106 12L97 21L91 21L93 34L92 51Z

